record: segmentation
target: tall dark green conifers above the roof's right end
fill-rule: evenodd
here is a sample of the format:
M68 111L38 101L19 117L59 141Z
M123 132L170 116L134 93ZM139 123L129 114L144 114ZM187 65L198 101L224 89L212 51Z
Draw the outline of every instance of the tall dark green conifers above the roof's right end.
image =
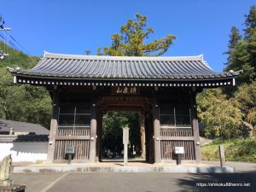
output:
M256 78L256 8L252 6L249 14L245 15L246 28L244 38L241 37L237 28L232 27L230 32L227 67L225 71L242 70L238 83L252 82Z

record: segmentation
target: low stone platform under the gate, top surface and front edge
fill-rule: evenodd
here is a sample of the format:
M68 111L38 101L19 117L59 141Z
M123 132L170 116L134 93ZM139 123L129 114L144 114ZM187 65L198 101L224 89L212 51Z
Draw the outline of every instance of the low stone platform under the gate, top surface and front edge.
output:
M17 166L15 173L26 172L179 172L179 173L230 173L233 167L212 166L209 164L185 164L177 166L170 163L148 164L129 162L124 166L122 162L103 162L94 164L39 164L32 166Z

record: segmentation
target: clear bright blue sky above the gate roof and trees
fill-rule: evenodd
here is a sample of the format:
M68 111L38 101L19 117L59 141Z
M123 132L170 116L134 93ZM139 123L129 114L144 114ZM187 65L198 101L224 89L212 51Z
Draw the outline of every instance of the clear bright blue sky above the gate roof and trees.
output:
M252 0L0 0L10 34L29 55L96 54L136 13L148 16L150 39L177 36L165 56L201 55L216 71L224 68L231 26L243 28Z

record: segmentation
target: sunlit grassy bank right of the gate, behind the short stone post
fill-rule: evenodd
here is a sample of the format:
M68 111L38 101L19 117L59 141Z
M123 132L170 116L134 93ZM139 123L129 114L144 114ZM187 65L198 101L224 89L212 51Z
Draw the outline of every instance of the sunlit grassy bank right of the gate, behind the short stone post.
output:
M218 145L223 144L228 161L256 162L256 137L214 142L201 148L202 160L219 160Z

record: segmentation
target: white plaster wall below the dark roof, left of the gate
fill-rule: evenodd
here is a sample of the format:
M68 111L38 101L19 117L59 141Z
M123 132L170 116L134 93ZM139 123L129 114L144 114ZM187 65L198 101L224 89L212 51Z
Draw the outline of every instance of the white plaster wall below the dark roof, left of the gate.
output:
M13 162L47 160L48 142L0 143L0 161L12 154Z

